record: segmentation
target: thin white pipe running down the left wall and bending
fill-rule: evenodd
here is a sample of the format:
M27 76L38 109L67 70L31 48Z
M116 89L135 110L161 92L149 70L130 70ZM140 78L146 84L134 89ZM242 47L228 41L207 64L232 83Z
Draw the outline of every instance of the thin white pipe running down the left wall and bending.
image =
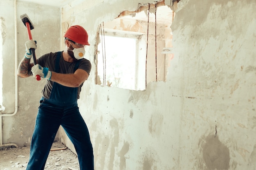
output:
M0 115L0 147L2 146L15 146L18 148L17 144L2 144L2 117L13 116L18 112L18 40L17 40L17 0L14 0L14 31L15 31L15 110L12 114L2 114Z

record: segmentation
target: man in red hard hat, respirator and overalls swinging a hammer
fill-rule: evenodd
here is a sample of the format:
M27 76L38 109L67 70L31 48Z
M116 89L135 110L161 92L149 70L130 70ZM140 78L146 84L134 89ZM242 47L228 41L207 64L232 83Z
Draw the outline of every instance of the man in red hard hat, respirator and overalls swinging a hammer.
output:
M77 106L81 87L91 70L90 61L83 58L85 45L90 45L88 34L82 26L74 25L67 29L64 39L64 51L39 57L35 66L30 63L30 49L36 49L36 43L34 40L27 41L25 56L19 64L19 77L39 75L46 79L31 140L27 170L44 169L60 125L74 144L80 169L94 169L90 135Z

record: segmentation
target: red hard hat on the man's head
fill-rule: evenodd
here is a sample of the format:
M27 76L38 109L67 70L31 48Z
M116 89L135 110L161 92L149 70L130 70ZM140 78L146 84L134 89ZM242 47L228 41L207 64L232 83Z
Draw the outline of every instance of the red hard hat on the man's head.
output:
M88 42L88 33L79 25L70 26L70 28L65 32L64 37L79 44L90 45Z

